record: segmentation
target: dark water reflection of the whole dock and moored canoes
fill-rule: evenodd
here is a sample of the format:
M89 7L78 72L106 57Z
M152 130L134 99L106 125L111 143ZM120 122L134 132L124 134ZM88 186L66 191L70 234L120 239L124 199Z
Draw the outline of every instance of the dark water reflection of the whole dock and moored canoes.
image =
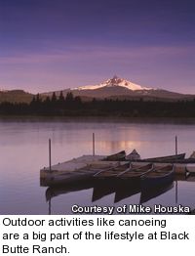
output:
M52 214L52 199L54 197L58 197L62 194L67 194L68 196L68 194L82 191L88 192L91 205L94 205L94 202L96 202L96 205L103 205L103 197L106 197L110 194L114 194L114 197L112 197L113 201L109 200L112 205L117 204L118 202L123 202L123 204L132 203L131 197L134 197L134 195L137 195L137 204L146 203L146 205L150 205L151 202L152 205L154 205L159 203L161 196L169 196L169 192L172 192L175 197L175 202L173 205L177 205L179 199L179 182L191 184L193 183L193 185L195 185L195 177L190 177L189 179L184 175L178 175L176 176L174 182L165 184L152 190L143 190L140 188L140 186L134 185L133 183L128 186L127 182L111 184L108 182L99 183L95 180L89 180L88 182L71 184L68 186L50 187L46 190L45 196L49 205L49 214ZM187 206L187 204L185 205ZM53 210L55 209L53 208ZM71 212L69 212L69 214L71 214Z

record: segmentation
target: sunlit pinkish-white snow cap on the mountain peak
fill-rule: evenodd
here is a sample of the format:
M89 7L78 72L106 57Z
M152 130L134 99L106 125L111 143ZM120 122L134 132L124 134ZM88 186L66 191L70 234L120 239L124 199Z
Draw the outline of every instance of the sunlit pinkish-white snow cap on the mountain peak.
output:
M103 87L115 87L115 86L121 86L121 87L124 87L124 88L127 88L129 90L132 90L132 91L138 91L138 90L154 90L152 88L148 88L148 87L142 87L136 83L132 83L128 80L125 80L123 78L119 78L117 77L116 75L111 78L111 79L108 79L98 85L87 85L87 86L81 86L81 87L78 87L78 88L74 88L72 90L96 90L96 89L99 89L99 88L103 88Z

